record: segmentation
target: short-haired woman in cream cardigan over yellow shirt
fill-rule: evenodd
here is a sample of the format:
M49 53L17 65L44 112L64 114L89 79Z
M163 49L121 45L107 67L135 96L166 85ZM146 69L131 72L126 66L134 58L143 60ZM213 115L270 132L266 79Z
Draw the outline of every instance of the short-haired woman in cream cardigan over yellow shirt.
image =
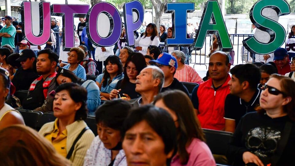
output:
M59 154L72 161L73 166L81 166L94 139L84 121L88 112L87 91L75 83L64 83L55 92L53 114L57 118L44 124L39 134L49 140Z

